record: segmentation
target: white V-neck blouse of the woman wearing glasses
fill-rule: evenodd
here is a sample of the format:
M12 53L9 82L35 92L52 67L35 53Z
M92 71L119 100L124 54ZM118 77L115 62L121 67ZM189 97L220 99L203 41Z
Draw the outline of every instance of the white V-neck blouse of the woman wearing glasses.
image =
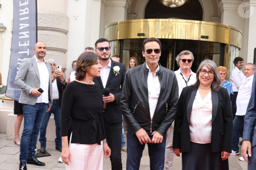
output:
M200 144L211 143L211 119L211 91L202 100L197 90L189 122L191 141Z

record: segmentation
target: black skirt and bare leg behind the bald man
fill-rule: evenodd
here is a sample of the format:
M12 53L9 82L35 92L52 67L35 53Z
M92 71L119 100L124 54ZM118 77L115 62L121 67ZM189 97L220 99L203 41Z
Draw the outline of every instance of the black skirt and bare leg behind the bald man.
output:
M14 143L16 145L20 145L20 139L19 139L19 130L21 127L21 123L23 120L23 109L22 109L22 104L19 103L19 101L14 101L14 114L17 115L14 123Z

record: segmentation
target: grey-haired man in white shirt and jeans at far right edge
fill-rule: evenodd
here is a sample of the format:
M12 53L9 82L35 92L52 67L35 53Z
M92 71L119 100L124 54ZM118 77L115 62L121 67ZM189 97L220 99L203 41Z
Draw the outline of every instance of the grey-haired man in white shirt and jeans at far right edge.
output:
M245 113L252 93L252 81L256 67L253 63L245 65L245 77L240 84L237 94L237 112L233 120L233 141L231 155L239 155L239 132L244 125ZM242 158L240 158L242 159Z

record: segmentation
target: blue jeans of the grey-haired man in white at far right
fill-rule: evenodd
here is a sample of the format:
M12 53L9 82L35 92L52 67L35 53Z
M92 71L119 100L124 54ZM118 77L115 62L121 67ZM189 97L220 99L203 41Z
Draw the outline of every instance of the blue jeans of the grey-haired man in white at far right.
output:
M238 152L239 147L239 131L241 127L244 125L245 116L236 115L233 120L233 140L232 140L232 150Z

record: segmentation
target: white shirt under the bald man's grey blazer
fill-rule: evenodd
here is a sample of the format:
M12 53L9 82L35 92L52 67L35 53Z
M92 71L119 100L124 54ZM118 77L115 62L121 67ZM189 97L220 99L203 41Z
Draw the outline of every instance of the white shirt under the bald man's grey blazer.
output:
M36 58L34 56L34 58ZM37 103L49 103L49 71L46 66L46 61L40 62L38 58L36 58L36 62L38 65L38 71L40 76L40 88L44 90L42 95L38 97ZM31 92L30 92L31 93Z

